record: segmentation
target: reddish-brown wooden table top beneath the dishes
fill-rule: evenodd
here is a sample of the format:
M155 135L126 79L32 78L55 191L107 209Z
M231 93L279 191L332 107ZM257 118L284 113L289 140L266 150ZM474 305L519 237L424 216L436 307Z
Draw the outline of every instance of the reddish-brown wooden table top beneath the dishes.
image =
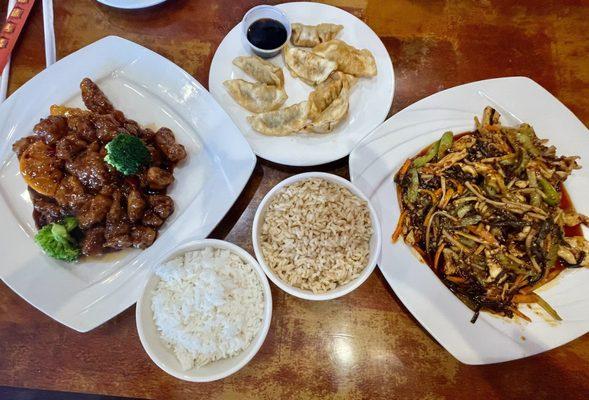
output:
M118 35L171 59L206 85L221 39L258 1L170 0L141 11L91 0L54 3L58 58ZM331 3L365 20L388 48L396 73L391 114L455 85L525 75L589 123L586 1ZM37 5L13 57L10 91L44 63ZM258 160L244 192L211 236L252 252L251 223L262 196L287 176L309 170L348 175L346 159L318 168ZM220 382L190 384L149 360L137 337L134 308L80 334L0 283L0 386L150 399L589 397L589 335L529 359L474 367L460 364L436 343L379 272L352 294L329 302L298 300L274 286L272 294L272 326L253 361Z

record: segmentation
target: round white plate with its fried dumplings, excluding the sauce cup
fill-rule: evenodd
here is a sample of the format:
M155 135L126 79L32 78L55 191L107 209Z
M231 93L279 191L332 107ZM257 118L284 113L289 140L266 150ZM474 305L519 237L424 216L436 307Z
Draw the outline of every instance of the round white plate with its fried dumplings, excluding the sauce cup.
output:
M277 7L291 23L281 52L255 55L240 22L215 52L209 90L261 158L312 166L346 157L390 110L389 54L368 25L337 7Z

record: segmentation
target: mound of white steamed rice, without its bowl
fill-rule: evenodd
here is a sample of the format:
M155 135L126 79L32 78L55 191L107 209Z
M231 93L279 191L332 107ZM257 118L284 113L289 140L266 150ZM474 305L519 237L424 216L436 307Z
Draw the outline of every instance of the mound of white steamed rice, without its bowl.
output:
M176 257L155 273L154 321L184 370L233 357L258 334L262 285L238 255L209 247Z

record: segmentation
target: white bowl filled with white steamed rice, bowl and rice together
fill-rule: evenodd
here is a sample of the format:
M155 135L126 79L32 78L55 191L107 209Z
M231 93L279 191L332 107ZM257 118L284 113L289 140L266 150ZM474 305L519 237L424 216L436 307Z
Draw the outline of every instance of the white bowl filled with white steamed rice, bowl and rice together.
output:
M153 362L191 382L225 378L258 352L272 318L270 285L254 257L221 240L162 255L137 301L137 331Z

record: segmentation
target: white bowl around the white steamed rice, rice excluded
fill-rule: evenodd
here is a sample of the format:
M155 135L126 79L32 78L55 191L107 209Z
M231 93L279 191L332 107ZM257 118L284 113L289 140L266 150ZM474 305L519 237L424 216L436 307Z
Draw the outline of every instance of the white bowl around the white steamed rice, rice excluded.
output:
M250 345L239 355L212 362L201 368L193 368L191 370L184 371L182 370L180 362L174 353L168 349L160 339L159 333L157 332L157 328L153 321L151 299L153 289L159 282L159 278L154 273L152 273L151 277L147 281L147 284L145 285L145 288L143 289L141 297L137 301L135 318L137 322L137 331L139 332L139 339L141 339L141 344L143 345L143 348L149 357L151 357L153 362L158 367L178 379L183 379L190 382L210 382L217 379L222 379L243 368L256 355L262 346L262 343L264 343L264 339L266 339L266 334L268 333L268 329L270 328L270 321L272 319L272 293L270 292L270 285L268 284L268 280L264 275L264 271L247 251L232 243L215 239L185 242L172 249L167 254L163 255L158 264L168 261L187 251L200 250L207 247L230 250L252 266L260 278L260 284L262 285L262 291L264 292L264 316L260 331L254 337Z

